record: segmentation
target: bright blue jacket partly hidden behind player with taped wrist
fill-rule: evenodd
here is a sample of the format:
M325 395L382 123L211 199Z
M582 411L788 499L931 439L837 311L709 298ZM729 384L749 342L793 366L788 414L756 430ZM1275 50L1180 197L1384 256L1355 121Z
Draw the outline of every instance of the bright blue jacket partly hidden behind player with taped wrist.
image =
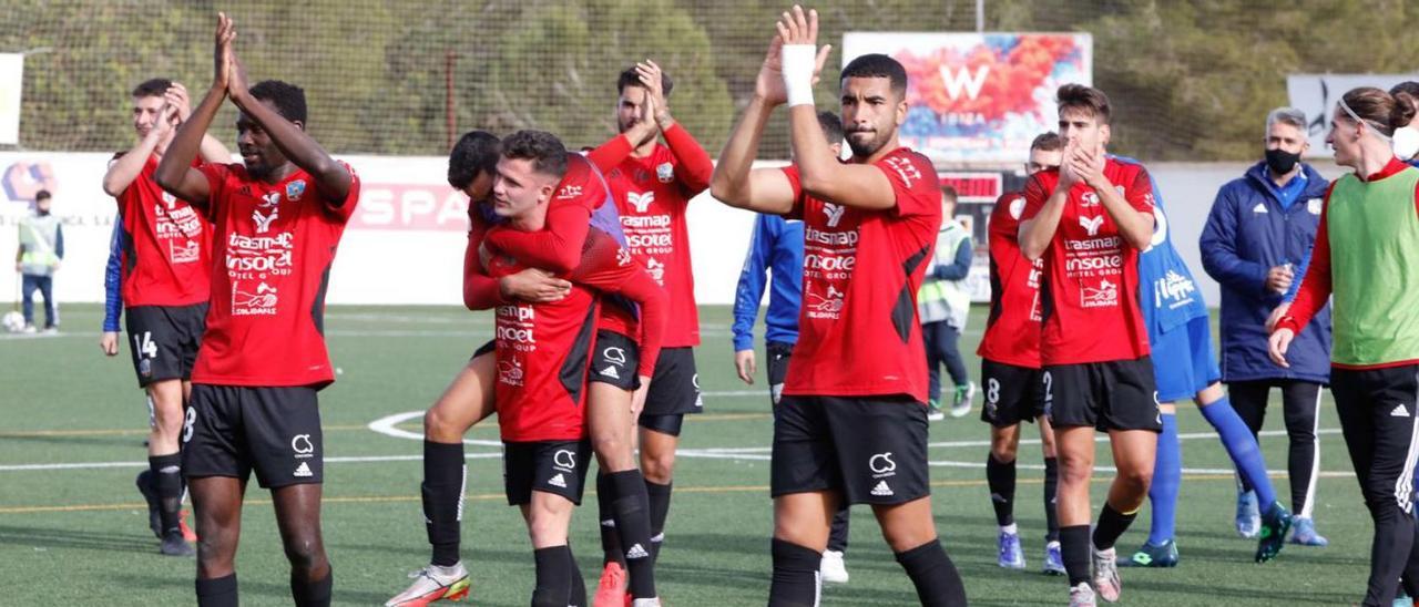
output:
M773 272L765 340L797 343L797 313L803 301L803 221L761 214L753 224L749 254L734 294L734 350L753 349L753 322L763 301L763 274Z

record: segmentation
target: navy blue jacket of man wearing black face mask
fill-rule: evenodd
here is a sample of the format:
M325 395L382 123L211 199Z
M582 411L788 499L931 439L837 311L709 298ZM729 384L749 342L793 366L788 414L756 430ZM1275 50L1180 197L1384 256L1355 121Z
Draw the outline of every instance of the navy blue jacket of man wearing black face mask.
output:
M1271 363L1266 355L1266 318L1283 295L1266 291L1266 272L1283 264L1304 277L1321 201L1330 182L1315 169L1301 165L1307 186L1291 208L1281 210L1266 163L1247 169L1246 176L1218 191L1199 245L1202 267L1222 284L1222 380L1298 379L1330 383L1330 306L1296 336L1287 359L1290 369ZM1294 292L1294 288L1293 288Z

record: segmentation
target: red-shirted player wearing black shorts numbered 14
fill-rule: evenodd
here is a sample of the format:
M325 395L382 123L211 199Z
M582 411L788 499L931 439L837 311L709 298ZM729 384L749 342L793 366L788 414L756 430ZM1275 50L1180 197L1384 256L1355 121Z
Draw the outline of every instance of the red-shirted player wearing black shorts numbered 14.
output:
M148 433L148 468L138 489L156 515L159 552L187 556L182 533L183 403L192 391L192 366L206 328L211 295L211 223L153 180L176 126L192 115L187 89L166 78L133 88L138 143L119 152L104 174L104 191L118 201L122 230L122 301L128 308L133 373L148 391L153 424ZM211 135L201 138L201 159L227 162L231 153ZM152 516L150 516L152 518Z

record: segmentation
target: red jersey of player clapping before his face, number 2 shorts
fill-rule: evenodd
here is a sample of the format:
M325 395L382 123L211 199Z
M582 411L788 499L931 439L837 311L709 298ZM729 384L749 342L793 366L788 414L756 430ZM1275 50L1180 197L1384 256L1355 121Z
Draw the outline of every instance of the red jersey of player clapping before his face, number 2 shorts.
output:
M1108 159L1104 177L1128 204L1152 214L1152 183L1142 165ZM1039 214L1059 183L1059 169L1025 186L1022 221ZM1040 363L1134 360L1148 355L1138 308L1138 250L1124 241L1093 187L1076 183L1044 260L1044 329Z

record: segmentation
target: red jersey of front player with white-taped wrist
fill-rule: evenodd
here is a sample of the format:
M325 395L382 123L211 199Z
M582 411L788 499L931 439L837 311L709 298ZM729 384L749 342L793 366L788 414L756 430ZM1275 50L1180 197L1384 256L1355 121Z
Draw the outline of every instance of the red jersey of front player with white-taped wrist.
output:
M941 184L931 160L907 147L873 166L891 182L895 207L817 200L803 193L796 167L783 169L792 217L803 220L803 305L785 394L927 401L917 291L941 228Z

